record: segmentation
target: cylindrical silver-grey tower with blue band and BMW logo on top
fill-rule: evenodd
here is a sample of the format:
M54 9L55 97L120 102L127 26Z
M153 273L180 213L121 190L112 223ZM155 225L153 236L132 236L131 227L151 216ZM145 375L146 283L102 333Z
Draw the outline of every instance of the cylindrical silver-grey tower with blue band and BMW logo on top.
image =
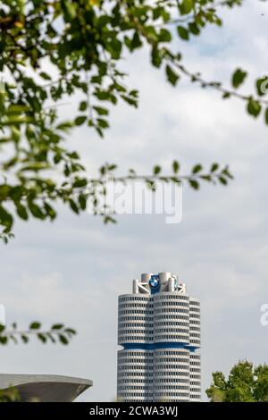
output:
M119 401L201 400L200 304L172 273L141 274L118 305Z

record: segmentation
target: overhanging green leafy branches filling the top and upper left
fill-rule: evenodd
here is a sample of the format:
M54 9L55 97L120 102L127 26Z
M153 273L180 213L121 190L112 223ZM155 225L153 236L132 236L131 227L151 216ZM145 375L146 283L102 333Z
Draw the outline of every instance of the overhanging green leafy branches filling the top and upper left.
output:
M95 207L96 180L88 179L80 155L66 147L66 139L76 126L93 128L103 137L112 105L121 100L138 106L138 90L126 84L127 74L120 68L127 53L145 48L152 66L161 69L172 86L186 76L202 88L217 89L224 98L246 101L247 112L256 118L266 106L266 78L256 81L255 94L245 96L239 87L247 71L234 71L231 87L223 88L188 71L180 54L182 44L208 25L222 25L222 9L241 4L243 0L1 2L2 239L7 242L13 236L17 217L54 220L56 201L76 214L86 209L88 201ZM59 118L59 105L66 98L74 107L71 121ZM265 118L268 122L267 111ZM229 174L219 173L217 180L225 185ZM214 175L196 172L178 177L197 189L202 180L214 181Z

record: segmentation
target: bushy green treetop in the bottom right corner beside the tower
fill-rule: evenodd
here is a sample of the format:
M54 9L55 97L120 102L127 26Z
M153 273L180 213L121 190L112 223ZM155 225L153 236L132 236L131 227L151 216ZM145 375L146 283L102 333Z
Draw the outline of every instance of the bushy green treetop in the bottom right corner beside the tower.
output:
M214 372L206 395L213 402L268 402L268 365L239 361L228 379L222 372Z

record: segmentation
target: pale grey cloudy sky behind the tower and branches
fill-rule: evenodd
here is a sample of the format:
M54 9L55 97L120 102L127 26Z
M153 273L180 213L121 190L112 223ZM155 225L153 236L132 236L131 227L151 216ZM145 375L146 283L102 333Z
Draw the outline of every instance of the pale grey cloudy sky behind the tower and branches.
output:
M263 15L264 13L264 15ZM237 67L252 80L268 71L268 5L247 0L224 13L222 29L207 28L190 43L174 41L184 63L208 80L230 86ZM183 187L180 224L162 215L121 215L104 225L89 214L59 208L54 223L17 223L16 237L0 249L0 303L6 321L24 328L32 320L44 326L63 322L78 330L67 347L1 348L2 373L66 374L91 379L80 400L116 398L117 298L131 290L140 273L179 274L202 307L202 388L211 374L225 374L239 359L267 362L268 326L260 307L268 303L268 127L255 121L239 100L180 80L172 88L162 71L152 69L146 52L126 56L129 84L140 91L138 110L113 109L105 139L77 129L70 147L80 151L88 172L105 162L121 171L147 173L155 164L169 172L174 159L182 172L193 164L230 164L235 180L227 188ZM64 117L73 115L66 105Z

